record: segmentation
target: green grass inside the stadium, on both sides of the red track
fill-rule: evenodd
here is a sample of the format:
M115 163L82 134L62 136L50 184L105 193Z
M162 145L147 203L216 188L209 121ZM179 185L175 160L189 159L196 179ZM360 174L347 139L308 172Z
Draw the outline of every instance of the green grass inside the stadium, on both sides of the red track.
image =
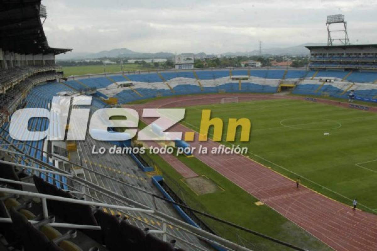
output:
M292 179L301 177L303 185L348 205L351 205L351 199L357 198L359 208L376 213L377 114L291 99L185 108L182 125L199 131L201 111L210 109L211 117L220 117L224 121L224 139L229 117L249 118L252 124L250 141L232 144L247 146L250 158ZM236 138L239 138L239 129ZM325 132L330 135L324 135ZM212 133L211 127L210 137ZM222 144L232 145L226 141ZM169 186L178 191L188 205L309 250L330 249L271 208L256 206L256 198L197 158L178 157L198 175L207 176L225 191L198 196L182 183L182 176L161 157L150 157L164 173ZM223 229L221 235L234 240L234 233L226 231L224 225L205 221L220 232ZM284 250L259 237L240 235L253 242L256 250Z

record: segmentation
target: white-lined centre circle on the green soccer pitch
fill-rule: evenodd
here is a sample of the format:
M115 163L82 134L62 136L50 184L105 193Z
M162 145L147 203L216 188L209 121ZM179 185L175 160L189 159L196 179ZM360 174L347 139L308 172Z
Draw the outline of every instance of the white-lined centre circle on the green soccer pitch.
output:
M341 123L330 119L318 119L310 117L297 117L283 119L280 125L299 130L333 130L342 126Z

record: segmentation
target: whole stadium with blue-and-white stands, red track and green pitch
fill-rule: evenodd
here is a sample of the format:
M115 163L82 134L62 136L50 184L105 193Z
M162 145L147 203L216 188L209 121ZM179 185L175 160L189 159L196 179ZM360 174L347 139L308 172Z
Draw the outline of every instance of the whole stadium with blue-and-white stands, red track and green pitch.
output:
M55 56L72 49L49 46L41 1L0 13L0 250L377 250L377 44L329 32L305 68L63 77ZM135 111L153 140L121 140L132 126L104 108ZM151 108L185 108L168 130L182 140L161 140ZM209 109L222 123L202 131ZM81 129L95 113L115 136ZM237 125L228 140L232 118L250 140ZM116 146L135 151L97 154Z

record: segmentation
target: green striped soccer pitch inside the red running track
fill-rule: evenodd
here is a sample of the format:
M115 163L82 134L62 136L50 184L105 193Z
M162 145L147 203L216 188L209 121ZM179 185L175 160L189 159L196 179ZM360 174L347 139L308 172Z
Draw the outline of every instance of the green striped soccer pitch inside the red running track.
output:
M377 114L281 99L190 106L181 123L199 131L203 109L224 121L223 139L228 118L251 120L250 141L234 142L247 146L250 158L343 203L357 198L360 208L377 213Z

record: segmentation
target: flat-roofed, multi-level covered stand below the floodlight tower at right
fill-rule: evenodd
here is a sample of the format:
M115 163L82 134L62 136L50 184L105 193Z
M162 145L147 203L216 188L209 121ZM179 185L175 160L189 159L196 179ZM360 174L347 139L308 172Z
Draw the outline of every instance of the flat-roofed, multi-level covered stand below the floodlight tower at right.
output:
M377 44L306 46L313 70L376 70Z

